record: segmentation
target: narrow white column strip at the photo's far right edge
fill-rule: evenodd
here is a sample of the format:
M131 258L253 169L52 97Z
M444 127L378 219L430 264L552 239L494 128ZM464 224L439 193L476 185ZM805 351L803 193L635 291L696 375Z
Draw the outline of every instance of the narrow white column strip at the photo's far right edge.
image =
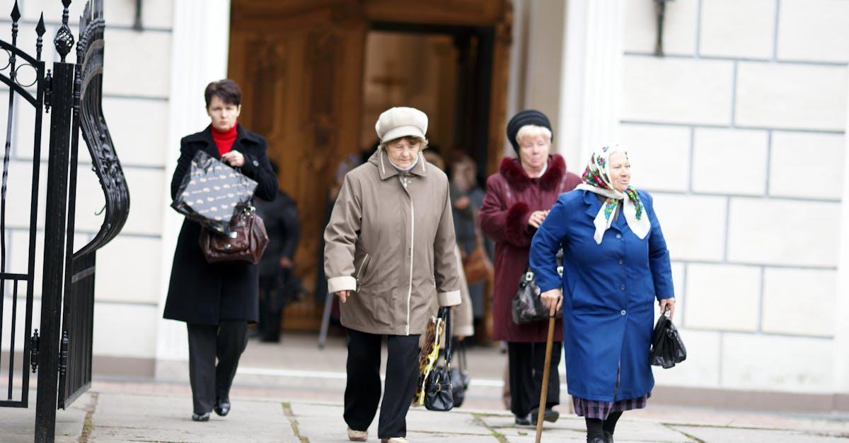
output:
M849 119L846 121L846 134L849 134ZM845 152L849 152L849 136L846 137L845 144ZM834 312L835 392L849 394L849 322L846 322L849 317L849 154L844 155L841 238L838 247L840 256L837 262L837 306ZM830 312L829 306L823 306L823 312Z

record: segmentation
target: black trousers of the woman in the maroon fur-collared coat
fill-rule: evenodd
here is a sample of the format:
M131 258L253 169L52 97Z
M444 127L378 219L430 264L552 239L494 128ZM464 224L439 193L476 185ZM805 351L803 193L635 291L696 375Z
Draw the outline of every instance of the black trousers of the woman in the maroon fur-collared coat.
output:
M545 407L560 404L560 377L557 366L563 347L555 342L551 350L548 372L548 398ZM507 343L510 379L510 412L525 417L531 409L539 407L540 389L543 387L545 343Z

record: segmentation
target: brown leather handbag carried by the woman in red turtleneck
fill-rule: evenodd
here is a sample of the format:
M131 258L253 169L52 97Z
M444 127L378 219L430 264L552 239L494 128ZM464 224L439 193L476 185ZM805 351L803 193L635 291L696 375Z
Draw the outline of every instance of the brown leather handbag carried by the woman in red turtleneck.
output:
M233 218L229 235L213 233L205 227L200 230L200 250L208 263L250 261L256 265L267 245L265 223L252 207Z

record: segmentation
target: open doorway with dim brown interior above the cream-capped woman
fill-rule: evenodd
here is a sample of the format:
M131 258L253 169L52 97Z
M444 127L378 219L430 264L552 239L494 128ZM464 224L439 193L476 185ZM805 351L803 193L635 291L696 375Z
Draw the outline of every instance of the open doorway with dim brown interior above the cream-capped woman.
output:
M366 34L361 146L392 106L429 117L430 146L443 160L468 154L486 172L492 87L492 27L378 22Z

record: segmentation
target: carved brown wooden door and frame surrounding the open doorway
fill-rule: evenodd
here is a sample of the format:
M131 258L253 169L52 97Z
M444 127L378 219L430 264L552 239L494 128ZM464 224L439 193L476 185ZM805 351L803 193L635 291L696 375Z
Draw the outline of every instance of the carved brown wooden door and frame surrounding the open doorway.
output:
M457 119L464 149L484 176L495 171L503 152L510 12L507 0L233 0L228 76L243 88L240 121L267 137L280 187L297 202L301 219L296 273L311 296L286 308L285 329L317 330L320 322L312 291L330 188L340 161L358 153L368 137L368 33L486 36L486 53L475 59L483 75L460 85L474 91L466 94L467 108L458 110L464 118Z

